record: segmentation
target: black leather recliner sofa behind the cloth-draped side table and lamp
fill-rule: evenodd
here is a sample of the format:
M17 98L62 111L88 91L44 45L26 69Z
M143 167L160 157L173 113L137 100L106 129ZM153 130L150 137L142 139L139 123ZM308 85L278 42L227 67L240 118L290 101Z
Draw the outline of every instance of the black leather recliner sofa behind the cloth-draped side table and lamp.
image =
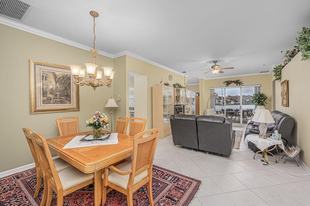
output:
M295 120L288 114L285 114L278 110L273 110L270 113L275 119L275 123L266 124L266 126L270 128L267 133L274 133L275 130L278 130L279 134L281 134L283 144L286 146L293 131ZM253 125L253 123L253 121L248 123L245 137L248 134L259 133L258 126ZM254 152L259 151L259 149L256 148L251 142L248 142L248 148L252 149Z

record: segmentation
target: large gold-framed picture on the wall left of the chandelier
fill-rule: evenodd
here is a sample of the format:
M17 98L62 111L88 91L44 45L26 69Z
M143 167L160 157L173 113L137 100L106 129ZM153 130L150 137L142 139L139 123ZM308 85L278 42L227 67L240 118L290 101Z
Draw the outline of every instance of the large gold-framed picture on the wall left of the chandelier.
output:
M31 114L79 111L70 67L31 59L29 67Z

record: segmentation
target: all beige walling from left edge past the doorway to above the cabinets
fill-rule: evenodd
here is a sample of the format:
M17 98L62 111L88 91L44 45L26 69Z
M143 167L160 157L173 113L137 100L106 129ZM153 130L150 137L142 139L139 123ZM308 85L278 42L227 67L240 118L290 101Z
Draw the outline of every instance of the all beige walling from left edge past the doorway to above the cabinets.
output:
M152 127L152 86L159 85L161 78L163 78L163 83L169 82L171 86L174 83L182 85L186 83L186 78L182 75L173 74L129 56L115 59L100 56L104 66L114 67L115 76L111 88L100 87L93 91L93 88L89 86L80 87L80 111L78 112L30 114L29 59L60 65L84 65L89 61L90 52L2 24L0 24L0 31L0 62L2 65L0 172L33 163L29 146L22 132L23 127L28 127L50 138L59 135L56 118L78 116L79 131L88 131L90 128L85 127L86 119L90 118L96 110L105 113L110 118L110 108L104 106L110 97L117 99L120 94L122 101L117 102L119 107L114 110L113 126L115 127L115 117L126 116L128 113L129 71L145 74L148 77L148 128ZM173 81L169 81L169 74L173 75ZM110 130L110 126L107 130Z

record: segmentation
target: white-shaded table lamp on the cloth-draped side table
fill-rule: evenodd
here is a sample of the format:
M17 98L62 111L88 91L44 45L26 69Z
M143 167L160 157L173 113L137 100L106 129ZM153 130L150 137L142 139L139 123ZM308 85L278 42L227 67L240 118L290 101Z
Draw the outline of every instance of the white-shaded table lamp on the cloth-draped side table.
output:
M275 120L272 117L269 110L259 109L257 112L255 112L255 115L253 116L252 121L261 123L261 125L258 126L258 130L260 131L260 137L267 139L266 137L267 126L265 125L265 123L275 123Z

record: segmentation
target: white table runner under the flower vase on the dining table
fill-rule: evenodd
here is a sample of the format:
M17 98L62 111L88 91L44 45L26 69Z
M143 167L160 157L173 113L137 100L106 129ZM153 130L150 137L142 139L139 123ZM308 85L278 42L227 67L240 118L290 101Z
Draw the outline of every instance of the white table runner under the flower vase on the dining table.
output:
M80 141L80 139L85 137L85 135L76 136L62 148L68 149L68 148L89 147L98 145L114 145L118 143L117 134L118 133L111 133L109 139L106 140L90 140L90 141Z

